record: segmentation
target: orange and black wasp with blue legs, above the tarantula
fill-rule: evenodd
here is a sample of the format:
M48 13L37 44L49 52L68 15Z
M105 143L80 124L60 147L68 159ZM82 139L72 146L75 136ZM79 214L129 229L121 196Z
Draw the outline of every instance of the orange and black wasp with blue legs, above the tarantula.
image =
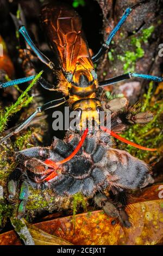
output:
M163 81L162 77L129 72L118 77L98 82L97 74L93 67L93 63L97 62L102 54L109 49L112 38L114 38L115 34L127 20L131 11L146 2L149 1L143 1L132 8L126 9L121 20L109 34L99 52L92 58L82 31L82 22L80 21L80 17L76 11L68 7L65 3L61 4L55 2L55 4L46 5L41 10L41 21L52 50L56 56L55 65L35 46L22 22L17 20L17 18L11 14L18 31L22 34L23 38L32 48L36 56L52 71L57 71L59 78L57 90L61 91L64 94L64 97L55 99L51 102L47 102L43 106L37 107L36 111L30 115L27 120L25 120L14 131L2 138L1 143L10 136L20 132L30 123L30 121L32 121L37 113L45 111L48 108L57 107L65 102L68 102L72 111L79 111L80 117L82 117L82 114L84 113L87 118L91 112L93 119L98 123L99 112L105 108L105 104L102 104L102 102L96 97L98 87L109 86L110 84L130 79L132 77L139 77L155 82ZM33 80L33 78L34 76L29 76L1 83L0 88L7 88L14 84L21 84ZM43 77L39 79L39 83L45 89L52 91L56 90L56 87L45 81Z

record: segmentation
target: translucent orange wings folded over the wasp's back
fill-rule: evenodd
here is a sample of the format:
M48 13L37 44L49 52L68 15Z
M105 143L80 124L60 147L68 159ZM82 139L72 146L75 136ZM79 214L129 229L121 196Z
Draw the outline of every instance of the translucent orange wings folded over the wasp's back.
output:
M77 63L93 69L89 47L82 32L79 15L65 4L46 5L41 19L53 51L65 72L73 72Z

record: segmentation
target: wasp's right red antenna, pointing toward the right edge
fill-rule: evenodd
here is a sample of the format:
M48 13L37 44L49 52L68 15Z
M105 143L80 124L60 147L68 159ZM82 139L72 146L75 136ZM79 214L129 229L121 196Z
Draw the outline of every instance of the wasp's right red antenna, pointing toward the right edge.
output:
M142 150L148 150L148 151L156 151L157 149L151 149L151 148L145 148L141 145L137 145L136 143L134 142L131 142L131 141L128 141L128 139L125 139L123 137L121 137L120 135L117 135L115 132L109 130L108 128L104 127L104 126L101 126L101 130L109 133L111 136L115 137L116 139L119 139L120 141L124 142L124 143L127 143L137 149L142 149Z

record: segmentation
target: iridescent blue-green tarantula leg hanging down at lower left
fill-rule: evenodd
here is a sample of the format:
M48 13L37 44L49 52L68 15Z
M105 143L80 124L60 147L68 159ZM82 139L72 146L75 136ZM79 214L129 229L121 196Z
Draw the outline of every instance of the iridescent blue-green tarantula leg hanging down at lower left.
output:
M23 181L20 189L19 199L21 200L18 206L17 218L22 218L26 212L26 204L29 197L29 187L27 181Z

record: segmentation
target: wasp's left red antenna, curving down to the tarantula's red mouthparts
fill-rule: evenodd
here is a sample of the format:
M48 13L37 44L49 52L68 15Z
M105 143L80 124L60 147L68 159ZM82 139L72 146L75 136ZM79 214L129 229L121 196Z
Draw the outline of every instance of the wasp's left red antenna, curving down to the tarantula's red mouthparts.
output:
M54 162L52 160L47 159L47 160L45 160L44 163L46 163L50 168L56 169L58 166L60 166L60 164L70 161L78 153L79 149L82 147L82 145L85 141L87 132L88 132L88 129L86 129L84 131L84 134L83 134L82 138L80 139L79 144L77 145L76 149L74 149L74 151L70 154L70 156L66 157L64 160L61 160L59 162ZM55 172L55 170L53 170L53 172ZM56 175L54 174L54 177L55 176ZM52 179L51 177L53 178L53 174L50 174L49 176L47 176L47 178L45 178L45 180L48 181L48 180Z

